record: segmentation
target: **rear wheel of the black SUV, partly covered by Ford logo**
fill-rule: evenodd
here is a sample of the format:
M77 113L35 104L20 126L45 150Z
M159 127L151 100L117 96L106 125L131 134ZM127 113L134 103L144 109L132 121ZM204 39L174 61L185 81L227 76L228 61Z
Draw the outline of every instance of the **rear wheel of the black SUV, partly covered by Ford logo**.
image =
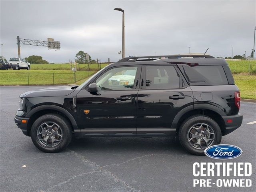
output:
M179 140L182 147L188 152L194 155L204 155L204 150L207 147L220 144L220 126L208 116L191 116L181 124Z

